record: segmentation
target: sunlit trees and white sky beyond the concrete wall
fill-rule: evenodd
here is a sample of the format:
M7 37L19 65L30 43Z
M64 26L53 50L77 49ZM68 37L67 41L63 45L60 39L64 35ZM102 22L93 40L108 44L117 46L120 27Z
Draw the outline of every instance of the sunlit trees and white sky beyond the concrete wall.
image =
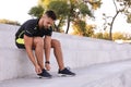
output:
M22 25L48 9L56 10L56 32L107 40L130 40L130 0L3 0L0 2L0 23Z

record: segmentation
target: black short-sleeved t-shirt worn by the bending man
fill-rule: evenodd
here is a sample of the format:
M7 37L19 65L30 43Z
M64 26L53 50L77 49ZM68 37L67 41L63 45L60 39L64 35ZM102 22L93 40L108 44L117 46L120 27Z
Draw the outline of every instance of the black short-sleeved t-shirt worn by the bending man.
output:
M23 38L24 34L28 37L43 37L43 36L51 36L52 28L39 28L38 27L39 18L28 20L26 21L20 29L16 32L16 38Z

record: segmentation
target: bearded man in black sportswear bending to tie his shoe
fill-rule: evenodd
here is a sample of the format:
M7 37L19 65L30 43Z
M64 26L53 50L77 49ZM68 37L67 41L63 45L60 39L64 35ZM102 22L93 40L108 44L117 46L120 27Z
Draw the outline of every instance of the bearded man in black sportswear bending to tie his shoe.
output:
M51 77L47 72L47 70L50 70L50 48L53 48L59 65L58 74L75 75L75 73L64 67L60 42L57 39L51 39L51 25L53 25L56 18L53 11L47 11L40 18L26 21L15 34L17 48L26 49L27 55L34 64L38 76ZM33 53L33 50L35 50L35 53ZM45 66L44 51L46 58Z

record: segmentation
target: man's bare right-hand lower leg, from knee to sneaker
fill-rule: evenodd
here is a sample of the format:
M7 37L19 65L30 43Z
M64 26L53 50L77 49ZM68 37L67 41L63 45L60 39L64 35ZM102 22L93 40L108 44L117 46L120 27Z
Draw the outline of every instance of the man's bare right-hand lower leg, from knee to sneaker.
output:
M51 39L51 47L53 48L53 53L55 53L55 57L57 59L59 70L63 70L64 64L63 64L63 55L62 55L60 41L57 39Z

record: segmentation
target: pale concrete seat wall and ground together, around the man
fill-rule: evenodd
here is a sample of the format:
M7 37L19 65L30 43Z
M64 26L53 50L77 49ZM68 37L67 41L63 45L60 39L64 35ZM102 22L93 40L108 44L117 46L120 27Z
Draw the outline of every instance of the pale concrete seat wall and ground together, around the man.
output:
M131 45L53 33L66 66L78 75L59 77L51 50L51 79L37 78L25 50L17 49L19 26L0 24L0 87L131 87Z

